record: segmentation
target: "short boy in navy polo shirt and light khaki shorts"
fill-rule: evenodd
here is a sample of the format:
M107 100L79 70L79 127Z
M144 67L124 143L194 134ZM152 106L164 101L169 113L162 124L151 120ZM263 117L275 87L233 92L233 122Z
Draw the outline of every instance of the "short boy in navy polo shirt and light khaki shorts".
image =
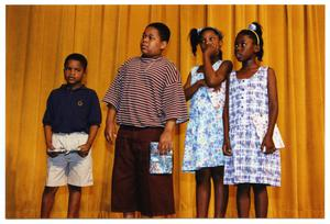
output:
M47 180L41 217L50 217L59 186L68 186L67 217L79 217L81 187L92 184L91 145L101 123L99 99L81 81L87 59L70 54L64 63L66 85L47 100L43 124L47 147Z

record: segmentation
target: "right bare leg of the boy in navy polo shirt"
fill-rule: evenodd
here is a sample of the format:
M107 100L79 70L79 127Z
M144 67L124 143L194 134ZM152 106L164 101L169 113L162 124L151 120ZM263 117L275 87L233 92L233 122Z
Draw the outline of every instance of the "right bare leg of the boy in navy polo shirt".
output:
M68 201L67 217L79 217L81 187L68 184L68 189L69 189L69 201Z

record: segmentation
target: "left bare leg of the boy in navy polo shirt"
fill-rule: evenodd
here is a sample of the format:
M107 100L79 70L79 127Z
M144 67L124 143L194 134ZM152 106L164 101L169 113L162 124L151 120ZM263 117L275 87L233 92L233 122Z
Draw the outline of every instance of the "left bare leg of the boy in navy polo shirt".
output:
M41 217L48 219L54 205L55 194L58 187L45 187L42 198Z

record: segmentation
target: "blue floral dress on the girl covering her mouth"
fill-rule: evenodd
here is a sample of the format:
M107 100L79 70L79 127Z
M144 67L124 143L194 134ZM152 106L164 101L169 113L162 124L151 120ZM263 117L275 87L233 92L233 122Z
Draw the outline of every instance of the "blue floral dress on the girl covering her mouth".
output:
M221 60L215 63L213 69L218 70L221 63ZM198 66L191 69L191 85L205 78L202 72L197 72L197 69ZM201 87L193 96L185 139L183 171L224 165L222 154L224 99L226 81L218 90Z

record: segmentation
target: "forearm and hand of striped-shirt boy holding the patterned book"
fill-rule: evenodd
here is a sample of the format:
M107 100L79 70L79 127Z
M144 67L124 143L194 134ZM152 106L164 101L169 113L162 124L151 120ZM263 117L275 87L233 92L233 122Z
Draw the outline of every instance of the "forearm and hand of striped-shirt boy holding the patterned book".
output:
M160 144L158 144L160 154L166 154L167 150L173 149L175 125L176 125L176 119L170 119L166 121L165 128L160 137Z

